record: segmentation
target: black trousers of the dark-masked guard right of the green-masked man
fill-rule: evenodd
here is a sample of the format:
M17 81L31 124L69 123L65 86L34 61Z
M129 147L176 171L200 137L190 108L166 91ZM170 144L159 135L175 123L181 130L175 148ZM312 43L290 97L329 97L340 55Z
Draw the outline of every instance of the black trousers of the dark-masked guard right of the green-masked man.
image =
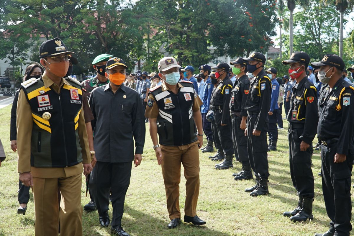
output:
M268 179L268 144L267 144L267 129L268 122L265 122L265 127L261 131L260 136L254 136L253 129L255 128L255 122L257 115L247 116L247 150L250 165L255 172L255 175L264 179Z

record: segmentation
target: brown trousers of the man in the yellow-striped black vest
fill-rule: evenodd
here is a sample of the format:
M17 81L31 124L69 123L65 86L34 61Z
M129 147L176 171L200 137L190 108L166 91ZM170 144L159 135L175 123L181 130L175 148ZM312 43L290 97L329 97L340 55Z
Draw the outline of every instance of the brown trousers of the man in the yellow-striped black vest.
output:
M82 236L81 173L65 178L33 177L35 236ZM61 192L59 213L58 190Z

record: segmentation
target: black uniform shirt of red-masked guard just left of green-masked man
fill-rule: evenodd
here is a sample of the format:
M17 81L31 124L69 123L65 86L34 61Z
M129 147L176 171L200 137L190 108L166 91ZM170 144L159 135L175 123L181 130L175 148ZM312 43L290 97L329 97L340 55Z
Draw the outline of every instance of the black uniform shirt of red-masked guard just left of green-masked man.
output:
M226 73L226 72L224 72ZM228 124L230 119L230 97L232 90L232 81L229 76L226 75L225 79L220 81L215 90L211 94L211 106L220 106L222 110L221 123Z

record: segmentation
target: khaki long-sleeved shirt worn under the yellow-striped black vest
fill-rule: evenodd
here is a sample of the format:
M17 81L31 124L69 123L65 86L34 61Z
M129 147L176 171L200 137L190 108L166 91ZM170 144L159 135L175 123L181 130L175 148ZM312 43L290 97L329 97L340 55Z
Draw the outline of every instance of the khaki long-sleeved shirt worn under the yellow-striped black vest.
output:
M56 85L45 73L42 75L44 86L51 87L57 93L60 93L63 84L70 85L68 81L62 78L60 85ZM83 99L86 99L83 97ZM17 155L18 172L31 172L33 177L38 178L64 178L82 173L82 164L91 163L89 141L87 138L84 111L81 108L79 116L78 133L80 146L82 148L82 163L69 167L33 167L31 166L31 136L32 136L32 109L28 103L23 90L20 91L17 103ZM64 147L63 147L64 148Z

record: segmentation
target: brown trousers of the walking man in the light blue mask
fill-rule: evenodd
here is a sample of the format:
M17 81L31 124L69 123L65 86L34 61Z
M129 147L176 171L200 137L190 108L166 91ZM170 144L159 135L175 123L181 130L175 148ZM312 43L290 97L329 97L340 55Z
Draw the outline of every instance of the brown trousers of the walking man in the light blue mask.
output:
M199 196L199 151L198 144L183 146L163 146L162 176L164 177L167 210L170 219L181 218L179 211L179 182L181 182L181 163L184 167L186 195L184 214L194 217Z

